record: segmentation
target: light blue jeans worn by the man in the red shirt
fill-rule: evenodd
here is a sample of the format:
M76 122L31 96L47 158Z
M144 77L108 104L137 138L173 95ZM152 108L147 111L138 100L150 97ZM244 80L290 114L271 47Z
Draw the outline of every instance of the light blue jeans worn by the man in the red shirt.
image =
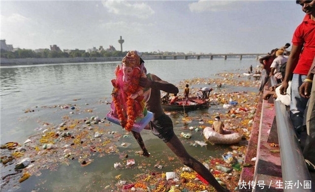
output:
M290 103L290 118L294 129L303 126L304 111L308 99L301 97L299 87L306 78L304 75L293 74L291 84L291 103Z

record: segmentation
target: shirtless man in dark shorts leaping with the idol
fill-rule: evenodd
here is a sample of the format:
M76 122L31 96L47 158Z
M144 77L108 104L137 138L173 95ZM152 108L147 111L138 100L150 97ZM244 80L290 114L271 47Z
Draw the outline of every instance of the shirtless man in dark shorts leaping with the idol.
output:
M206 181L209 182L218 192L229 192L229 190L223 188L211 172L198 160L190 156L184 148L181 141L175 135L173 130L173 122L171 118L163 112L161 106L161 93L164 91L167 93L178 93L178 88L160 79L158 76L151 74L151 76L141 77L139 85L144 88L151 88L151 96L147 102L148 111L154 114L153 120L149 123L146 129L151 129L152 133L158 136L166 146L181 160L181 162L192 168L199 175L201 175ZM140 133L134 132L135 137L140 137ZM138 135L138 136L137 136ZM140 143L139 143L140 144ZM140 147L143 149L144 144ZM145 148L144 148L145 149Z

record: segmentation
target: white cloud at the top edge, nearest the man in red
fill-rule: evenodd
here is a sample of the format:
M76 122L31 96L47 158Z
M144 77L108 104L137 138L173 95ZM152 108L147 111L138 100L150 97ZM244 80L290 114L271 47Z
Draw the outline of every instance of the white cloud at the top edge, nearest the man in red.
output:
M191 12L216 12L221 10L232 9L235 1L209 1L209 0L198 0L197 2L189 3L189 9Z

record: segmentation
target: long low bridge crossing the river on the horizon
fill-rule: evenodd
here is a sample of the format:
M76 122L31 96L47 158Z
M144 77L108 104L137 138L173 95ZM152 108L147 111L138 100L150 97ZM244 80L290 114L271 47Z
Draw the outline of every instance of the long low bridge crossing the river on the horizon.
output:
M143 55L143 59L200 59L200 58L239 58L242 60L243 56L248 58L267 55L267 53L222 53L222 54L185 54L185 55Z

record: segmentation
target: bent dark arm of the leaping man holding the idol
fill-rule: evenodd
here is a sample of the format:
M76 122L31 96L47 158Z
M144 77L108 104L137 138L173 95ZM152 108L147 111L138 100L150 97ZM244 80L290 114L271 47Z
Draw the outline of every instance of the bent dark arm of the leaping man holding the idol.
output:
M165 81L160 79L158 76L151 74L152 80L147 77L141 77L139 85L145 88L158 89L167 93L178 93L178 88Z

